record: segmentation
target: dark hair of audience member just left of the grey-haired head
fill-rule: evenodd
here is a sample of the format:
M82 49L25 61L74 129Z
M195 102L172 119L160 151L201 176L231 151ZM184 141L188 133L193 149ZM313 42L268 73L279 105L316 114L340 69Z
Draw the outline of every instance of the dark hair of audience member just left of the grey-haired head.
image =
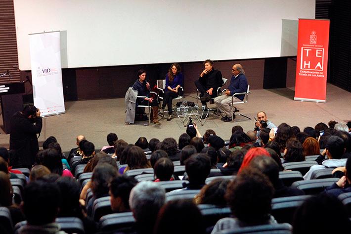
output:
M138 182L133 178L126 175L118 176L112 179L109 184L110 192L113 197L121 197L123 205L126 209L130 210L129 207L129 195L131 194L132 188Z

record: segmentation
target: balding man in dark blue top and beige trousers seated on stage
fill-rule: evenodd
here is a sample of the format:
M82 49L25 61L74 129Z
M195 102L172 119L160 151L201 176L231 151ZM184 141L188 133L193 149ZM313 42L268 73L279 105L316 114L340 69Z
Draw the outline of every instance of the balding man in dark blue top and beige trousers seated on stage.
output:
M231 68L231 73L233 75L231 77L228 89L225 91L224 95L215 98L215 104L223 113L223 116L220 120L224 122L229 122L232 120L232 116L230 114L232 95L235 93L245 93L248 87L245 71L241 64L234 64ZM234 96L234 103L244 100L244 97L245 95Z

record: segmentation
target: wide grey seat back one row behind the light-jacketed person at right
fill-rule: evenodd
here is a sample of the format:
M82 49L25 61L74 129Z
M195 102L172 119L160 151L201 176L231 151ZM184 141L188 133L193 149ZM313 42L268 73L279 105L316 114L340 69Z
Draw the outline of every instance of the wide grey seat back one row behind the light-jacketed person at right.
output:
M304 190L305 194L307 195L314 195L324 191L326 187L331 186L338 180L339 178L326 178L317 180L296 181L291 185L291 187Z

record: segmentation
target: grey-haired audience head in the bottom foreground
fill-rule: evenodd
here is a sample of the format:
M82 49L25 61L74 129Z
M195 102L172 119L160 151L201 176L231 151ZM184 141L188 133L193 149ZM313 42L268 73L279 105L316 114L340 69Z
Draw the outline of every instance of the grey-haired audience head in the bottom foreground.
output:
M136 220L137 229L152 233L157 214L165 204L166 192L163 187L151 181L142 181L132 188L129 206Z

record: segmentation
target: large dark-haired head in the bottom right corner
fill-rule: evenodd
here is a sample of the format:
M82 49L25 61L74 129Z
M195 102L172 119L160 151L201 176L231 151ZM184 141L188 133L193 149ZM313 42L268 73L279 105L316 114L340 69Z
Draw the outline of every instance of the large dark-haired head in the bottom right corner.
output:
M350 230L348 212L343 203L323 192L307 198L296 209L292 225L293 234L344 233Z

